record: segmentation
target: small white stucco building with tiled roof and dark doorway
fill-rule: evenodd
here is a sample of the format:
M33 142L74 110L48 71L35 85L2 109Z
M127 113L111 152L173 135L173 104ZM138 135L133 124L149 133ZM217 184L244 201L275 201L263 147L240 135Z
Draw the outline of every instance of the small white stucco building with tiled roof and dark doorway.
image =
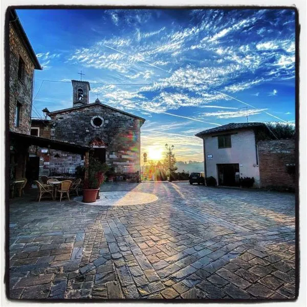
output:
M256 131L267 129L264 123L230 123L196 134L203 139L206 177L217 185L238 186L240 177L254 177L260 187Z

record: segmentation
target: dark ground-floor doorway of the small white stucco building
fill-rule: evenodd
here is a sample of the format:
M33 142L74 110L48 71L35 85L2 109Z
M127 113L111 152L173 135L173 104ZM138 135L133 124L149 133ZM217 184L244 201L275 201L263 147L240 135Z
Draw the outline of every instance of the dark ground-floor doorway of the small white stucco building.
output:
M235 187L239 186L239 164L217 164L218 185Z

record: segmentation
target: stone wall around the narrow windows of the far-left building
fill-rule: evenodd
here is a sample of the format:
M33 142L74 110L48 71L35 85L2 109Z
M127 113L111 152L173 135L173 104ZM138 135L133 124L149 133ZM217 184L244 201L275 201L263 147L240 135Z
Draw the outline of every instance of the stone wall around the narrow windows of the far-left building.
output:
M9 40L9 127L13 131L30 134L34 65L11 25ZM25 62L23 80L18 78L19 57ZM19 126L15 127L17 101L21 104L21 112Z

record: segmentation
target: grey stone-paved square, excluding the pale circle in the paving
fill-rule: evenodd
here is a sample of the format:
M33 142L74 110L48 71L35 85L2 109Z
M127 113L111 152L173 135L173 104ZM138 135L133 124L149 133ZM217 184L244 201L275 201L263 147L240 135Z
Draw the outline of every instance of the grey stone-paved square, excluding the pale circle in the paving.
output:
M11 298L295 297L294 194L186 182L101 190L158 200L10 201Z

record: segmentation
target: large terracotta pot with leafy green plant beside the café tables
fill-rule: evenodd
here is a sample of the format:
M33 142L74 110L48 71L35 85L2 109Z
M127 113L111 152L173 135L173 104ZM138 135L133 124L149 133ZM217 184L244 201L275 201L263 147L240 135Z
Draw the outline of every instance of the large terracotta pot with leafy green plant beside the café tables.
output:
M94 157L90 157L89 176L86 180L84 180L82 202L93 203L96 201L99 187L104 180L104 172L107 169L108 166L106 163L102 163Z

